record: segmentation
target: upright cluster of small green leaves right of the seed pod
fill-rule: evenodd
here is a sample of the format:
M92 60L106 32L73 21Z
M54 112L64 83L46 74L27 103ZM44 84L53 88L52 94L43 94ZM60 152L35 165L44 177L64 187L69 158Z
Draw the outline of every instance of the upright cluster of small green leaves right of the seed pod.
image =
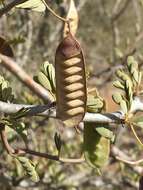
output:
M139 71L138 63L133 56L127 59L126 69L116 71L117 80L113 85L121 92L115 92L112 96L114 102L120 105L122 111L127 114L131 110L134 97L138 94L142 74Z

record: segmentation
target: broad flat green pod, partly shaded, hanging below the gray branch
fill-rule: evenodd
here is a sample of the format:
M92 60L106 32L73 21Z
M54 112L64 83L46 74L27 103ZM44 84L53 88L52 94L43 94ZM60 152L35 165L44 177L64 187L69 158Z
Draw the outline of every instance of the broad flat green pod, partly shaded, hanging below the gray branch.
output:
M84 156L91 167L101 168L109 158L110 140L102 137L95 130L95 126L93 123L85 123Z

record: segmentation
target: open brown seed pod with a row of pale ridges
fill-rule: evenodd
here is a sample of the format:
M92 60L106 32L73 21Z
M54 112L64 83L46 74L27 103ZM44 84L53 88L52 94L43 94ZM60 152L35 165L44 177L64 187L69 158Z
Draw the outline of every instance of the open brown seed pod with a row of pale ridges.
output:
M77 126L86 111L86 76L83 52L69 33L56 51L57 117L65 126Z

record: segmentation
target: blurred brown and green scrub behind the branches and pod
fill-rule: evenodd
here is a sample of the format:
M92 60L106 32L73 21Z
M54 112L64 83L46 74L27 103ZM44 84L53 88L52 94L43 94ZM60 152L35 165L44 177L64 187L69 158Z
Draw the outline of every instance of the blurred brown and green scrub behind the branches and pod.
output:
M49 0L50 7L63 17L66 17L68 3L68 0ZM126 63L128 55L134 55L140 67L143 64L143 1L75 0L75 4L79 14L76 37L85 54L88 87L99 90L101 97L107 101L108 112L115 111L117 107L111 98L115 91L112 87L115 70ZM62 31L63 23L49 11L37 13L14 8L0 18L0 36L11 44L16 62L31 77L38 73L44 61L54 64ZM10 81L17 102L42 103L2 66L0 74ZM58 130L56 121L33 117L24 122L28 127L31 148L55 153L53 138ZM14 132L8 133L14 146L21 144L21 139ZM66 130L62 136L65 157L80 156L82 135L77 135L74 130ZM126 129L119 132L115 145L133 159L141 155L140 147ZM7 156L2 146L0 152L1 190L136 190L139 175L143 172L141 167L124 165L112 157L101 176L86 163L60 164L35 157L33 160L37 163L41 180L34 184L22 176L22 169Z

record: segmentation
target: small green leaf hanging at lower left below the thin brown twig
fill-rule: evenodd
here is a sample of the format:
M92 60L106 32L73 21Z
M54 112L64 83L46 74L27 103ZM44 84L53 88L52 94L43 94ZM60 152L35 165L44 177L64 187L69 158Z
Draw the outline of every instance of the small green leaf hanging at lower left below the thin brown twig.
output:
M26 174L30 177L30 179L33 182L38 182L39 176L35 170L34 163L28 158L23 156L16 156L15 158L20 162L20 164L22 165L23 169L25 170Z

